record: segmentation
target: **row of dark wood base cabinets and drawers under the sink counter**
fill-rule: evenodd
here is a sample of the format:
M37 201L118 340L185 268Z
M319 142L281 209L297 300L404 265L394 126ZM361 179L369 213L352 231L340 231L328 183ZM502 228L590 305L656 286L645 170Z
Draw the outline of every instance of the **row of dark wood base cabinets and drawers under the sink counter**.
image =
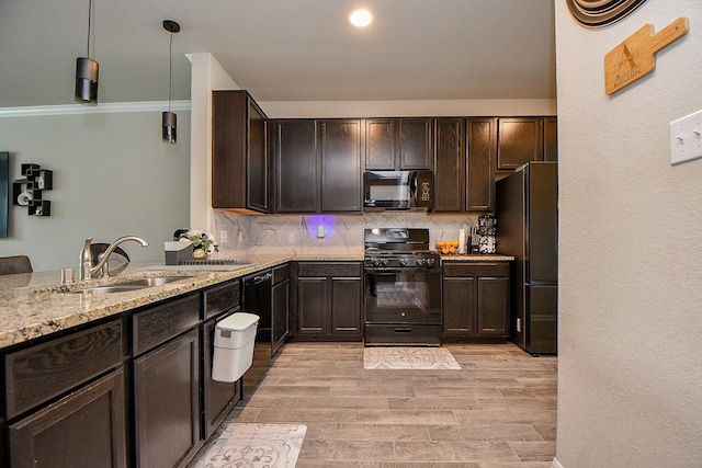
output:
M240 308L239 286L0 351L0 468L188 465L241 396L211 378L215 324Z

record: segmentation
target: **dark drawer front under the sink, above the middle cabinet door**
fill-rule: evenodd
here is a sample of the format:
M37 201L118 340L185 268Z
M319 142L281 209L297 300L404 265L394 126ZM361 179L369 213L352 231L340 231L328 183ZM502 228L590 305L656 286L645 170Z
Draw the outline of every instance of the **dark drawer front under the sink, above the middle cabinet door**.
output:
M138 355L200 322L200 295L193 294L172 303L135 313L133 318L134 355Z

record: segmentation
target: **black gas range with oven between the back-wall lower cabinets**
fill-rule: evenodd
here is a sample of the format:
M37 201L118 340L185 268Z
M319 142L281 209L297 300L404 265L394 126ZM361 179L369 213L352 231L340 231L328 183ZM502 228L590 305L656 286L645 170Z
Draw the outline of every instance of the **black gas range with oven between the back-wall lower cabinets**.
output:
M429 230L375 228L364 232L364 342L441 344L441 258Z

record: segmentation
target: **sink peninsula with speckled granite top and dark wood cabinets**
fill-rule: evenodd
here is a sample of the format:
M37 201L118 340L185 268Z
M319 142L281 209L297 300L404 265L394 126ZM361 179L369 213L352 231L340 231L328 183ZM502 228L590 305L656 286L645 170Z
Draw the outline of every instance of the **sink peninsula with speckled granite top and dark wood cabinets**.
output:
M140 262L67 285L59 272L0 276L0 467L188 465L241 398L241 379L211 378L216 322L240 309L241 277L296 258L349 260ZM84 287L113 292L76 292Z

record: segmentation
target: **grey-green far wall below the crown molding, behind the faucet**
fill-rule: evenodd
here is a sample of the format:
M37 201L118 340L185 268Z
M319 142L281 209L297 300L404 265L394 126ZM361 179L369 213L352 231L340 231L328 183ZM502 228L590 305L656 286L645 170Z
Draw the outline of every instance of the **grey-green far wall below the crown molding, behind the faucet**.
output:
M150 244L122 246L132 260L162 260L162 242L186 226L190 204L190 105L173 103L177 145L161 142L166 106L2 110L0 150L10 151L10 176L19 179L21 164L34 162L54 171L54 189L45 192L50 217L27 216L26 208L10 206L9 237L0 239L0 256L30 255L34 271L78 269L86 238L109 243L134 235Z

